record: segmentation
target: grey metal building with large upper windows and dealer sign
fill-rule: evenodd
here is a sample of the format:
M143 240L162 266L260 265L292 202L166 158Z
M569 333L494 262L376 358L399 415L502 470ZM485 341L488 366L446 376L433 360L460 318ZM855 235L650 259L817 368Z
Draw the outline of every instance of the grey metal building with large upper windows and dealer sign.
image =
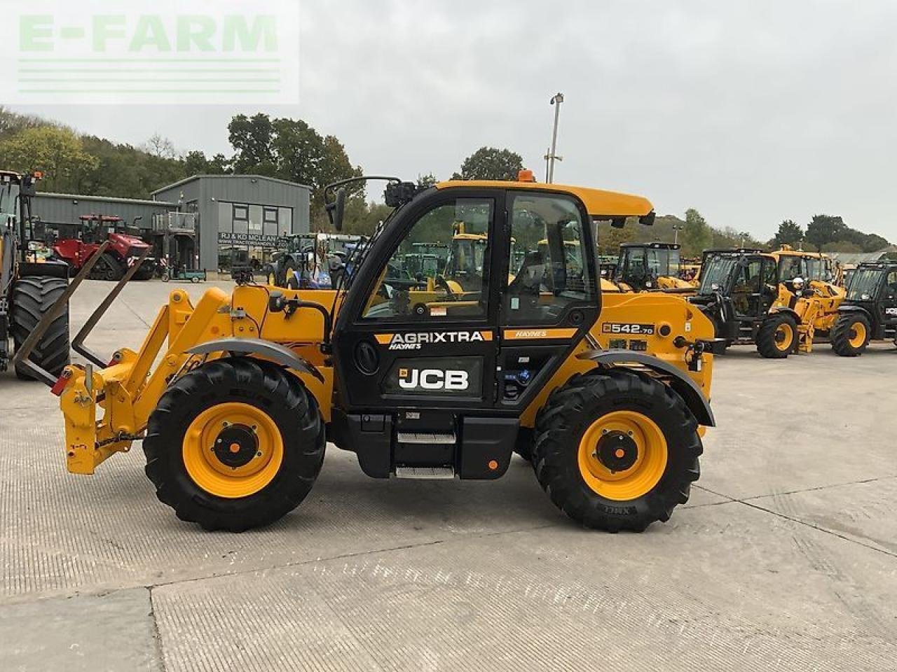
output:
M200 268L226 271L238 250L265 262L283 237L309 230L311 188L260 175L195 175L152 192L196 216Z

